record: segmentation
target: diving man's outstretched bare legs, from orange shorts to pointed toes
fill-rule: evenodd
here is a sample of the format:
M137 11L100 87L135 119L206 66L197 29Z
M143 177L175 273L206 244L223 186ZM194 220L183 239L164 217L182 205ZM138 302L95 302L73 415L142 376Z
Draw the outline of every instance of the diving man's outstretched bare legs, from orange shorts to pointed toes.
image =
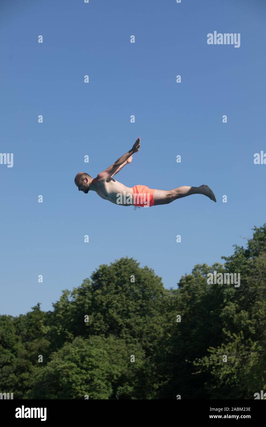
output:
M213 202L216 202L215 196L208 185L201 185L200 187L188 187L185 185L169 191L155 190L153 200L155 205L167 205L176 199L181 199L181 197L190 196L190 194L203 194Z

